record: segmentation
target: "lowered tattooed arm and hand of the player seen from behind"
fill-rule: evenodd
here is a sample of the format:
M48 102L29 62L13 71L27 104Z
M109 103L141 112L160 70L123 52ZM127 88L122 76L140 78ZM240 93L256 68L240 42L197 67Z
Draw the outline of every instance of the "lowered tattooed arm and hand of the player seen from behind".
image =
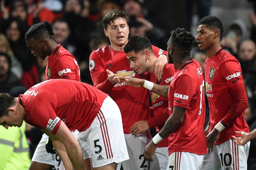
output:
M185 108L174 106L172 115L165 122L163 129L160 130L158 135L162 139L168 137L178 126L180 126L180 123L183 122L183 117L185 113L186 113ZM146 160L150 162L153 161L152 155L156 151L156 147L157 147L157 144L155 144L152 139L144 150L144 158Z

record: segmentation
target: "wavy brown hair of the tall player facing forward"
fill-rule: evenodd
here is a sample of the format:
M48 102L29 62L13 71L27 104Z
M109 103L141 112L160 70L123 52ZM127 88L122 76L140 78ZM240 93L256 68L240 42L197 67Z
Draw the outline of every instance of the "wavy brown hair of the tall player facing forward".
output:
M125 19L128 23L128 16L124 13L124 11L118 9L109 11L102 19L104 29L107 29L107 26L110 25L110 22L114 22L114 20L119 17Z

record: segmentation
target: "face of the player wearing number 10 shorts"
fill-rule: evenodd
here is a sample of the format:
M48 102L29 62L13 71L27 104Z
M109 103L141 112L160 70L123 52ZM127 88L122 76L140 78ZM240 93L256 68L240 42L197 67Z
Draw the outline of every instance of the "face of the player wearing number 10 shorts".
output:
M208 51L214 44L214 31L207 28L204 24L197 27L196 40L198 47L203 51Z

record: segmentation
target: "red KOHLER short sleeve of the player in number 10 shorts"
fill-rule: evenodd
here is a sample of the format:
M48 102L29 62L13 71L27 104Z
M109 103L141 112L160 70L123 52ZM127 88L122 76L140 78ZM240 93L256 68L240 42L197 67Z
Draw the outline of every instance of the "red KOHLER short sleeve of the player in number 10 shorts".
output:
M220 66L220 76L226 81L228 88L244 83L239 63L227 61Z

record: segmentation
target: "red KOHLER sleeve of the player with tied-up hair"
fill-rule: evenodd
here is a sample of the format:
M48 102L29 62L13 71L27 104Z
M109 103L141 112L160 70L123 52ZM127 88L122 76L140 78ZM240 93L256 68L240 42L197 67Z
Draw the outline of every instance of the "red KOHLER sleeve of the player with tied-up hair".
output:
M60 78L77 80L76 72L79 71L78 65L76 65L74 58L69 55L61 56L54 67Z

